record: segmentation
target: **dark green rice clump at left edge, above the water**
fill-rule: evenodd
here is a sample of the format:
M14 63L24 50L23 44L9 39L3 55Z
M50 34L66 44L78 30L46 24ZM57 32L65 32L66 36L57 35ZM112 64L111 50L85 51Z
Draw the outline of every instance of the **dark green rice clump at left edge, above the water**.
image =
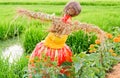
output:
M21 23L1 23L0 24L0 40L20 35L24 31L24 25Z

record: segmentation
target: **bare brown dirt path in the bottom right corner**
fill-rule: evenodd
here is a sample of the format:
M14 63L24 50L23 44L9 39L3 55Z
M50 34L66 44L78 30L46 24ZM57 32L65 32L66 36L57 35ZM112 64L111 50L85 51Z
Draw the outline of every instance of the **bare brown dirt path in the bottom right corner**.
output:
M106 78L120 78L120 63L113 67L112 71L107 74Z

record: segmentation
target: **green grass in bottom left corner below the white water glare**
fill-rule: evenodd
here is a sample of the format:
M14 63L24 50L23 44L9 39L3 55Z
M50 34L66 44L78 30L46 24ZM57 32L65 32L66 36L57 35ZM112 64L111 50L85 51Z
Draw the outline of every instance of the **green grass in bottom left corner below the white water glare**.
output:
M0 57L0 78L22 78L28 59L23 55L19 61L12 64L8 62L8 59L5 60Z

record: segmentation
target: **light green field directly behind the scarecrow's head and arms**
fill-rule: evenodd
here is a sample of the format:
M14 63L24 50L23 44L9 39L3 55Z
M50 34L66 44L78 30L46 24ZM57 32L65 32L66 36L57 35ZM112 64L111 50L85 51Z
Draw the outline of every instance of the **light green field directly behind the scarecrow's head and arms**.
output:
M4 7L4 9L2 8ZM10 8L9 8L10 7ZM22 7L32 11L42 11L45 13L55 13L60 16L62 13L63 5L0 5L0 20L2 22L11 21L16 14L16 9ZM49 9L46 9L48 8ZM8 9L9 8L9 9ZM57 9L56 9L57 8ZM73 20L79 20L80 22L91 23L99 26L105 31L110 32L110 28L120 25L120 6L82 6L82 12L79 16L73 18ZM23 22L26 19L22 19Z

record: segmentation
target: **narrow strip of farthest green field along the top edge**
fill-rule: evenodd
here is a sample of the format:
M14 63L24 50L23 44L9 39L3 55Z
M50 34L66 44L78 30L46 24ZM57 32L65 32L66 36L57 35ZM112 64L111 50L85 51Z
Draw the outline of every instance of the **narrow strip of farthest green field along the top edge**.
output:
M40 0L40 1L0 1L0 4L2 5L65 5L69 0L57 0L57 1L52 1L52 0ZM118 6L120 1L111 1L111 0L78 0L81 5L92 5L92 6Z

